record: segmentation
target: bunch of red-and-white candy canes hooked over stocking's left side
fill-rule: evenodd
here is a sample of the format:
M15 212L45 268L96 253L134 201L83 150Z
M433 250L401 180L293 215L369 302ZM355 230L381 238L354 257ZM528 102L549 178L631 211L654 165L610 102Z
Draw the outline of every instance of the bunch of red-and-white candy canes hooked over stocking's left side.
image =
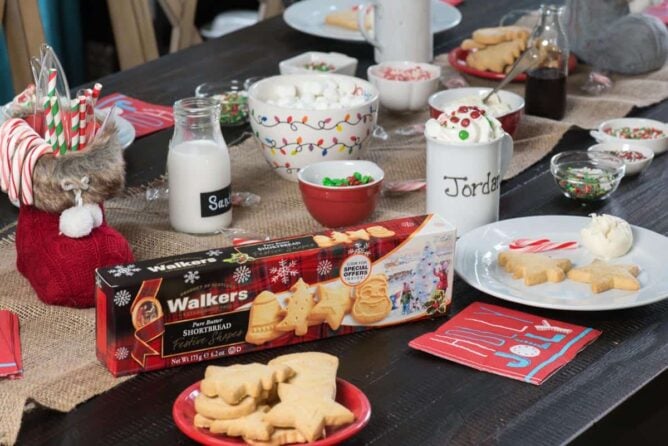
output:
M41 156L52 153L53 147L24 120L5 121L0 125L0 189L10 200L32 205L33 169Z

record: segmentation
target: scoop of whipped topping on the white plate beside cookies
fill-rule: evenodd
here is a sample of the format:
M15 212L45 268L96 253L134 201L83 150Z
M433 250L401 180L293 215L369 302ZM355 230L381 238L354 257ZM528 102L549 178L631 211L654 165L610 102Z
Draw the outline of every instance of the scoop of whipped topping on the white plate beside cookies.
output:
M631 226L619 217L591 214L591 222L580 231L582 244L596 257L621 257L633 245Z

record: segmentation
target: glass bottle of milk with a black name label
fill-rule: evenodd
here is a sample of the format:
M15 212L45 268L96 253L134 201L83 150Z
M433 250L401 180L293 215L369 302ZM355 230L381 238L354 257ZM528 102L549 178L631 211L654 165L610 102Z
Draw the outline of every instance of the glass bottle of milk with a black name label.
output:
M180 232L207 234L232 223L230 154L212 98L174 103L169 144L169 221Z

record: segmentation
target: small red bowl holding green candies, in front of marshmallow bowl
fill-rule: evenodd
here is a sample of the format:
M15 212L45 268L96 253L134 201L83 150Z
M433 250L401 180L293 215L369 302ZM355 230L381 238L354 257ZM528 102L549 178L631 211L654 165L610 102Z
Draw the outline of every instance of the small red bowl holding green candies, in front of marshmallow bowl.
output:
M360 172L374 179L369 184L348 187L322 186L322 179L343 178ZM384 173L371 161L324 161L303 168L299 190L311 216L323 226L338 228L361 223L378 204Z

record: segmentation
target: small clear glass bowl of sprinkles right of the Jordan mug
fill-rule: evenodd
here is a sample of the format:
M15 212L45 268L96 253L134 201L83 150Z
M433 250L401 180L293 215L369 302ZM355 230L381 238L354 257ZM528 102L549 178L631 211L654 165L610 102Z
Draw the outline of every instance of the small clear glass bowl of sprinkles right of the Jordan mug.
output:
M550 160L550 172L563 194L581 202L605 200L626 172L619 157L602 152L562 152Z

